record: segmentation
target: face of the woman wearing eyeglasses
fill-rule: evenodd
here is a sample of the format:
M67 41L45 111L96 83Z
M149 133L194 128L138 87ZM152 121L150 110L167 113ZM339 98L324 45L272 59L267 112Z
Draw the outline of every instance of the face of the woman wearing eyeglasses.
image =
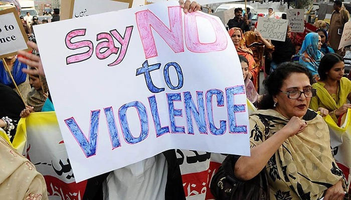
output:
M309 83L308 76L304 73L291 73L284 81L280 88L283 92L291 92L293 90L304 91L310 89L311 84ZM279 92L274 96L274 100L277 102L277 111L280 112L287 118L293 116L302 117L306 114L309 106L311 97L306 97L301 93L297 99L290 99L286 93Z

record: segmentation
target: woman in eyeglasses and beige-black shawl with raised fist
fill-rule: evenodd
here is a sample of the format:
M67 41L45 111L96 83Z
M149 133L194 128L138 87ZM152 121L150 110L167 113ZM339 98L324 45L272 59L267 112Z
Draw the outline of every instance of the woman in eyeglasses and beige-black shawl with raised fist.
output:
M251 156L231 162L232 174L242 180L265 170L270 199L341 200L345 195L347 183L331 154L328 126L308 109L316 95L311 82L299 64L285 62L272 72L264 81L268 93L261 110L249 118Z

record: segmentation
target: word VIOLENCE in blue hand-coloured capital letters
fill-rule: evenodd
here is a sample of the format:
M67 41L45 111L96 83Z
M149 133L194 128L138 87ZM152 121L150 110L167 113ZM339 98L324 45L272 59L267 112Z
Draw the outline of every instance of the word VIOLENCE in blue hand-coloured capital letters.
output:
M237 85L227 87L225 91L221 89L209 89L205 93L204 91L196 91L196 101L190 91L182 93L166 93L165 99L167 106L159 109L155 95L147 98L148 106L146 107L141 101L132 101L119 107L117 113L119 120L116 120L112 106L105 107L103 109L104 115L107 121L107 128L110 135L112 149L121 146L119 133L117 130L116 122L120 123L121 132L124 140L128 144L136 144L144 140L150 131L150 126L154 127L155 136L160 137L164 134L183 133L186 134L185 126L177 125L175 123L175 117L183 117L183 109L175 108L174 101L184 101L184 111L186 117L187 133L194 133L194 123L197 125L200 134L213 134L223 135L229 128L229 133L247 133L246 125L238 125L235 113L245 112L245 104L235 104L235 95L245 95L245 86ZM213 101L213 97L216 98ZM214 121L213 106L224 107L226 105L228 119L220 120L219 127L217 127ZM136 120L140 123L140 133L131 133L127 120L127 110L136 109L138 118ZM146 109L150 109L147 112ZM223 108L222 108L223 109ZM169 124L162 126L160 123L160 116L158 110L168 110ZM80 145L82 151L86 157L90 157L96 154L96 146L99 132L99 121L100 121L101 110L92 110L90 113L90 128L89 136L86 138L83 130L78 125L74 117L65 119L65 123L68 129L71 131L73 137ZM148 116L147 113L151 113ZM117 115L117 114L116 114ZM150 119L151 118L151 119ZM149 122L152 120L153 122ZM134 137L133 135L139 135Z

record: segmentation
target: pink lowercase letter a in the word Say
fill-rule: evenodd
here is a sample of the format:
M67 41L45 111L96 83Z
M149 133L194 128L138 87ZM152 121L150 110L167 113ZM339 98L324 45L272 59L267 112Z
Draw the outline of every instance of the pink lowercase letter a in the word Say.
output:
M96 46L96 57L99 59L105 59L106 57L110 56L112 53L117 54L118 47L114 46L112 36L107 32L101 32L96 35L96 41L101 39L107 39L107 41L101 41ZM107 48L107 49L106 49ZM104 50L104 51L101 51Z

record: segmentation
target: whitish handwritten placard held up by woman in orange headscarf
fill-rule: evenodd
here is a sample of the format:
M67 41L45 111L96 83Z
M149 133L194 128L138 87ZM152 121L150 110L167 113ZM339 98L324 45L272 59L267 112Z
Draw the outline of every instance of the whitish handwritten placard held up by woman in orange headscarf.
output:
M257 31L266 39L285 41L288 20L269 17L258 17Z

